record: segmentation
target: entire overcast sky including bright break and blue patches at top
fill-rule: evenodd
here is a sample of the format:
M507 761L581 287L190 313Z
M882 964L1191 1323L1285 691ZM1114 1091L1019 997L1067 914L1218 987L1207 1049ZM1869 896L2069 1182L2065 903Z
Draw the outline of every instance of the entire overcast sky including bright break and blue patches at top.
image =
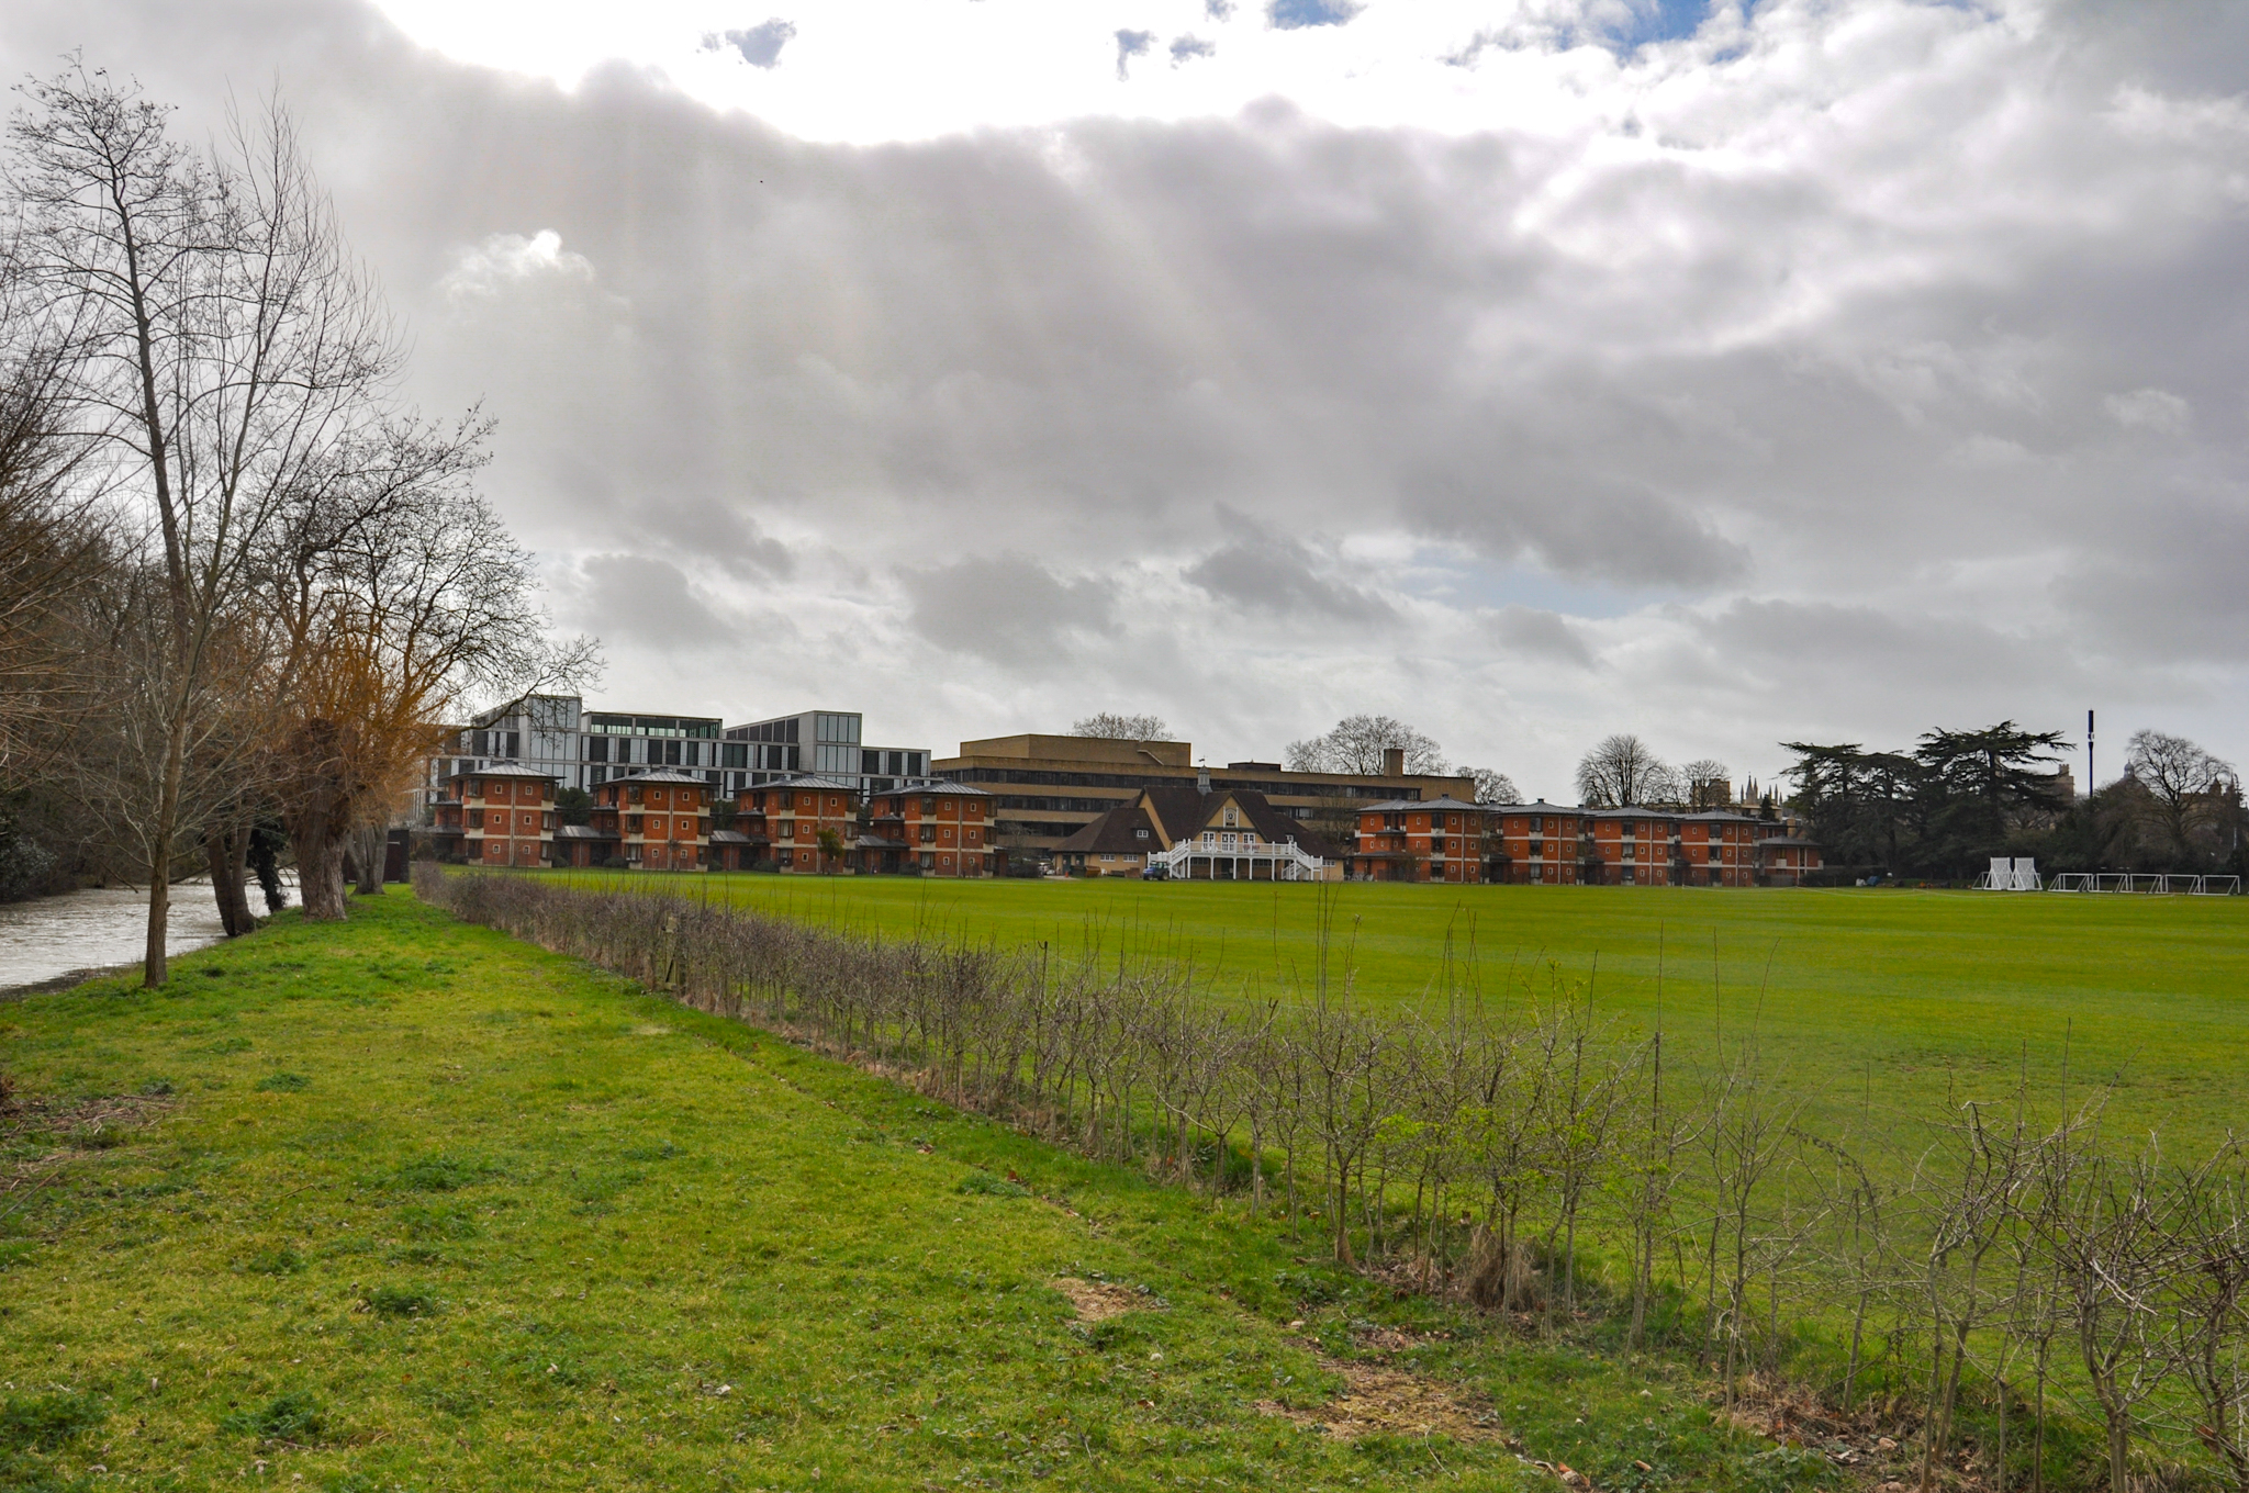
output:
M2249 7L11 0L279 83L630 711L2249 758Z

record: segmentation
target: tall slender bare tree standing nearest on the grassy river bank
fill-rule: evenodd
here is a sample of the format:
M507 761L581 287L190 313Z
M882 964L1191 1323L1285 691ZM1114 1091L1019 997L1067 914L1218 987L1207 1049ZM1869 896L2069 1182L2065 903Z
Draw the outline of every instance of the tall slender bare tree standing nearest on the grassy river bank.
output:
M162 985L180 845L218 807L191 787L238 787L225 762L198 771L196 753L261 740L234 724L243 654L261 643L243 616L256 560L308 470L380 409L398 351L279 106L198 155L171 139L164 108L83 63L22 92L22 263L72 308L88 346L79 396L106 416L103 452L151 519L160 625L133 666L151 733L142 978Z

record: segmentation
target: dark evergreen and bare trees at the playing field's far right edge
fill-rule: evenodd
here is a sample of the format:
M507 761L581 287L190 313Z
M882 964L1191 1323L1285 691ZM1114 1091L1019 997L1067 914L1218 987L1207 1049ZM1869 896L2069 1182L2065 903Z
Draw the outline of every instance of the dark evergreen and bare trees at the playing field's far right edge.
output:
M1790 803L1835 866L1963 877L1993 854L2051 870L2240 866L2240 773L2195 742L2132 735L2125 771L2076 798L2058 773L2062 735L1999 722L1930 731L1912 751L1786 742Z

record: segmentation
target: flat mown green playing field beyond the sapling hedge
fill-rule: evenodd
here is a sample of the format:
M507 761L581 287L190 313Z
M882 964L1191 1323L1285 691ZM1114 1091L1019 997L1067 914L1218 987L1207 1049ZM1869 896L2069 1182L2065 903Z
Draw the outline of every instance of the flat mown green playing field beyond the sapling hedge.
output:
M542 872L589 884L614 872ZM1538 886L1212 886L897 877L632 877L888 935L1192 960L1219 992L1347 969L1370 1001L1590 980L1673 1043L1754 1025L1831 1115L1864 1097L2112 1086L2110 1122L2209 1140L2249 1120L2249 897ZM1448 962L1451 960L1451 962Z

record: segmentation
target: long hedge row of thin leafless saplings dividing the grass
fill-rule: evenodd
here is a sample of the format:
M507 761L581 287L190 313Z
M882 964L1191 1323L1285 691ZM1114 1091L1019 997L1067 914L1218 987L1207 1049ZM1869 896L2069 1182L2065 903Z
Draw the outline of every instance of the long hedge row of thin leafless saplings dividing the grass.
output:
M1426 1010L1367 1010L1325 956L1295 1001L1244 1003L1167 965L418 875L463 917L1313 1228L1343 1264L1691 1354L1727 1412L1788 1381L1880 1405L1921 1437L1923 1489L1963 1453L1986 1486L2047 1486L2062 1421L2098 1432L2116 1493L2150 1448L2249 1489L2242 1153L2110 1144L2098 1095L1822 1106L1754 1021L1682 1057L1586 987L1484 1001L1453 960Z

